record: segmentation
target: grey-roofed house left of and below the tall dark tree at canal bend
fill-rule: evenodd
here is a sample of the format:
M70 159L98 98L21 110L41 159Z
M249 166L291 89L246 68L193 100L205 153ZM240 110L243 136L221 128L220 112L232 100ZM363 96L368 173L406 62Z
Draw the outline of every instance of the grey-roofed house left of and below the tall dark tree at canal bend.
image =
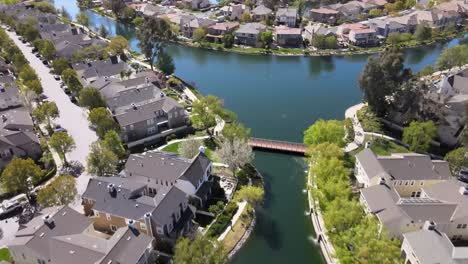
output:
M88 86L99 78L120 78L121 73L128 71L130 66L116 56L107 60L94 60L75 63L72 68L78 74L80 82Z

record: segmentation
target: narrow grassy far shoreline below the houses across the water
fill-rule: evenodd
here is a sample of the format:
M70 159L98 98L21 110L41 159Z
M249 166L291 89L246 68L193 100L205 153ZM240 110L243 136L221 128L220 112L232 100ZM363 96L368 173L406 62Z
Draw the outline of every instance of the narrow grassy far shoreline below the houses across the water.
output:
M80 8L85 8L85 7L80 7ZM114 22L117 23L122 23L123 25L126 26L132 26L134 27L135 30L137 30L137 27L133 25L132 23L125 23L122 21L118 21L116 18L109 16L105 13L98 12L94 8L86 8L87 10L90 10L97 15L106 17L111 19ZM142 17L142 16L137 16L137 17ZM143 17L145 18L145 17ZM421 47L429 47L432 45L437 45L437 44L445 44L448 43L452 40L463 38L466 35L468 35L468 27L464 27L461 32L457 32L455 36L453 37L447 37L443 39L432 39L427 42L423 43L418 43L415 45L397 45L401 49L411 49L411 48L421 48ZM226 52L226 53L234 53L234 54L241 54L241 55L255 55L255 56L279 56L279 57L326 57L326 56L352 56L352 55L372 55L372 54L377 54L382 52L388 47L391 47L391 45L384 44L381 46L376 46L376 47L370 47L370 48L357 48L357 50L349 50L349 49L329 49L329 50L308 50L308 49L301 49L301 48L286 48L286 49L291 49L295 50L296 52L281 52L280 50L258 50L255 47L240 47L240 46L233 46L233 48L224 48L224 47L213 47L211 46L212 44L215 43L209 43L209 45L200 45L199 43L195 42L190 42L190 41L184 41L181 39L178 39L176 41L171 42L176 45L181 45L184 47L190 47L190 48L196 48L196 49L202 49L202 50L209 50L209 51L217 51L217 52ZM252 49L256 51L252 51ZM133 51L136 52L136 51ZM139 52L138 52L139 53Z

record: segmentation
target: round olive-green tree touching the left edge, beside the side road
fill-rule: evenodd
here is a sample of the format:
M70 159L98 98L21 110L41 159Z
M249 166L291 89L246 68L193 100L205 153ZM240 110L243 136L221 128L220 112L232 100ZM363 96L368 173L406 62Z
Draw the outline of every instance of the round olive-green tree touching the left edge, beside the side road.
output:
M7 193L24 193L29 201L32 185L37 184L43 175L44 171L34 160L13 157L2 172L1 183Z

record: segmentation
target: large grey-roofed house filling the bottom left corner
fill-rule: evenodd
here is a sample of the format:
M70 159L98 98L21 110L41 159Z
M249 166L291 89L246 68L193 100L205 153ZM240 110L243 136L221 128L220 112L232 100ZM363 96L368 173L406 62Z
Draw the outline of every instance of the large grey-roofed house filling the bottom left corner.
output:
M21 225L8 249L17 264L148 264L153 240L131 226L113 235L98 232L92 218L65 206L46 208Z

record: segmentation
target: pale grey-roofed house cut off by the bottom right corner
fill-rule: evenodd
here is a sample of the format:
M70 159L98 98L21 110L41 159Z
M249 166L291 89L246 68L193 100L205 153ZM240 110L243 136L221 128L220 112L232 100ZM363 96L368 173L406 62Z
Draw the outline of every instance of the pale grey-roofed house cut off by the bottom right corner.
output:
M468 247L457 245L435 223L426 222L423 229L403 234L401 256L406 264L468 263Z

